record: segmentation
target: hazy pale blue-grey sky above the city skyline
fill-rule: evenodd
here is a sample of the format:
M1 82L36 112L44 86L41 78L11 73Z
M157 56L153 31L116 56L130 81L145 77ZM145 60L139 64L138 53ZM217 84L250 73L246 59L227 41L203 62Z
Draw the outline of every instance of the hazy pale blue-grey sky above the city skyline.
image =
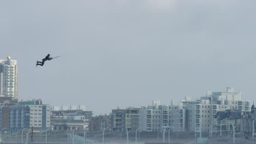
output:
M256 100L256 1L0 1L19 100L94 115L234 87ZM36 61L46 61L36 68Z

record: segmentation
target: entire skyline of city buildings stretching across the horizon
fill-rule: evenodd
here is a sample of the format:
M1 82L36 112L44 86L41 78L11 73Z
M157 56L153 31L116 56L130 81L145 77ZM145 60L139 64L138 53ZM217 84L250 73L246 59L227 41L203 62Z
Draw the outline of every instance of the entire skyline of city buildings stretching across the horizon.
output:
M161 105L153 100L149 106L113 109L109 115L93 116L85 105L50 106L41 99L18 101L18 67L15 60L0 60L0 128L9 133L33 127L35 130L107 131L254 131L256 107L242 99L241 92L227 87L225 92L210 92L192 100L185 97L177 105ZM210 133L210 134L211 134Z

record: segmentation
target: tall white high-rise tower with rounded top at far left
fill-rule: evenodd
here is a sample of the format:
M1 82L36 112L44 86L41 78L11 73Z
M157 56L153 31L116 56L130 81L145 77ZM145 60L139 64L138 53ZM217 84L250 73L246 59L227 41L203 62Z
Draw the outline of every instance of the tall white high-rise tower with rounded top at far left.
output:
M18 65L9 56L0 59L0 95L18 99Z

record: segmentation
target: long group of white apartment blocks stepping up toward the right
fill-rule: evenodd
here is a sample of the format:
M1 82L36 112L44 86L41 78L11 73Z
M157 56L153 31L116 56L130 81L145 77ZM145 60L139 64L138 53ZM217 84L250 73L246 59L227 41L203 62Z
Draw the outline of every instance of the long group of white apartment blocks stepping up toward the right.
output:
M159 131L168 125L173 131L200 129L207 132L217 124L218 111L251 111L250 108L250 102L242 100L241 92L234 92L234 88L228 87L226 92L207 91L206 96L194 101L185 97L178 105L160 105L160 101L153 101L152 106L139 110L139 127L142 131Z

